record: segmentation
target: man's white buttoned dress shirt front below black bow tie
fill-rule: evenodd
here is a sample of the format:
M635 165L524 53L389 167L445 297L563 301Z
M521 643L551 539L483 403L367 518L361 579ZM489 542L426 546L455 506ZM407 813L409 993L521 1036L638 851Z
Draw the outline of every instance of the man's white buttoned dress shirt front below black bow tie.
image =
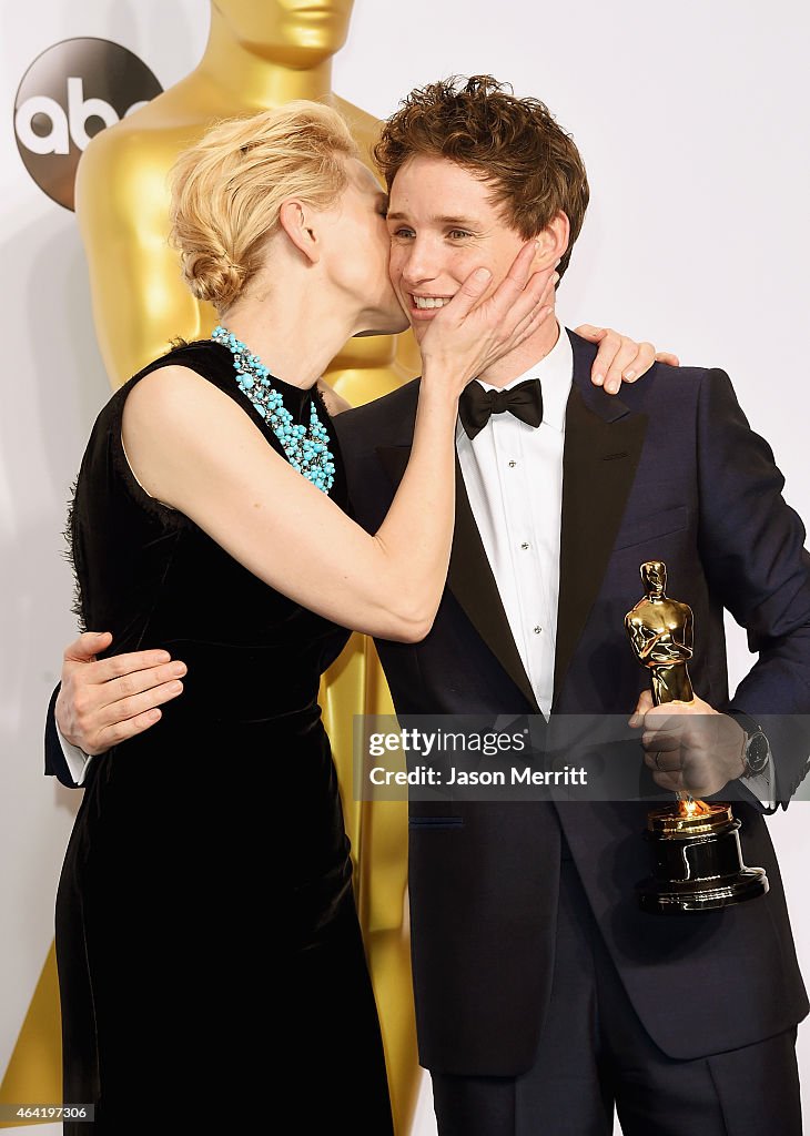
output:
M459 423L456 446L473 516L537 704L551 712L560 594L560 519L566 404L574 353L565 332L551 351L508 383L540 379L543 421L527 426L492 415L470 441ZM494 390L491 384L481 384Z

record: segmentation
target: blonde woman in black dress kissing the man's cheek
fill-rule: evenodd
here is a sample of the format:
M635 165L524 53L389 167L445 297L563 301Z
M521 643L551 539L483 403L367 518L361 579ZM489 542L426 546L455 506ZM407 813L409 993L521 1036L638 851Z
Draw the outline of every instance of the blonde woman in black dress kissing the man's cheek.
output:
M227 326L122 387L82 462L83 624L109 627L117 652L155 645L189 665L161 729L91 763L59 886L65 1100L94 1104L102 1131L143 1131L158 1085L177 1112L244 1122L270 1038L299 1131L327 1116L335 1130L390 1130L318 682L346 627L429 628L458 395L533 334L551 273L531 275L526 245L492 298L478 302L488 275L474 274L434 321L411 461L369 536L345 512L316 384L349 336L407 324L384 211L325 107L209 132L176 166L173 236Z

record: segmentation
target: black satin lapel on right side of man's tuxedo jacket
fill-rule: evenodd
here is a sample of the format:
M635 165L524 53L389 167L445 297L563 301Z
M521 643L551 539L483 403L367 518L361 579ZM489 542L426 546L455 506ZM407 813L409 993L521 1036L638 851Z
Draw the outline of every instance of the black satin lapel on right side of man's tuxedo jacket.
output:
M554 701L602 585L646 433L646 415L628 414L616 399L612 406L606 402L606 415L601 409L601 403L590 409L577 386L571 389L562 457Z

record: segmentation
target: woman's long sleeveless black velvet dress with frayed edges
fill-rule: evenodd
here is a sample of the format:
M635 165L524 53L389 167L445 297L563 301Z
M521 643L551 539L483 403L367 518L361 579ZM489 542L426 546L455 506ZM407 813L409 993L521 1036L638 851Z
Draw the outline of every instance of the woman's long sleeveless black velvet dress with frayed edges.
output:
M290 1108L297 1133L386 1136L379 1026L317 703L349 633L141 488L122 414L134 384L168 365L232 398L283 456L229 351L210 341L130 379L87 444L68 524L81 621L112 632L115 653L165 648L189 671L157 726L89 768L57 897L65 1102L94 1104L105 1134L258 1130ZM329 495L346 509L319 395L274 386L297 421L318 398Z

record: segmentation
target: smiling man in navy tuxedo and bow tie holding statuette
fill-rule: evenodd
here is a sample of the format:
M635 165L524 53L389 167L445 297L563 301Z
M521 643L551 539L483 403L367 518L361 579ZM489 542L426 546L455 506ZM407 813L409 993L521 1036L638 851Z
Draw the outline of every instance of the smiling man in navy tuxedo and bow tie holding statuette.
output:
M487 77L433 84L389 120L376 157L392 278L417 340L470 264L496 284L529 237L537 267L559 261L563 275L587 181L541 103ZM787 801L807 771L786 722L757 768L749 745L763 715L808 711L804 531L721 371L665 381L653 368L619 400L592 386L592 361L554 325L468 389L444 598L421 643L377 644L394 704L548 717L638 703L655 782L737 797L744 859L767 869L770 891L655 919L634 896L648 872L643 803L414 802L420 1060L442 1136L609 1134L613 1103L625 1136L798 1136L794 1042L808 1002L746 786L758 772L768 799ZM517 402L500 393L515 387ZM339 419L356 513L371 531L406 466L416 396L412 383ZM638 566L659 559L694 611L700 695L667 708L678 718L667 730L638 701L645 675L624 629ZM724 607L760 653L733 715ZM707 750L696 722L710 716Z

